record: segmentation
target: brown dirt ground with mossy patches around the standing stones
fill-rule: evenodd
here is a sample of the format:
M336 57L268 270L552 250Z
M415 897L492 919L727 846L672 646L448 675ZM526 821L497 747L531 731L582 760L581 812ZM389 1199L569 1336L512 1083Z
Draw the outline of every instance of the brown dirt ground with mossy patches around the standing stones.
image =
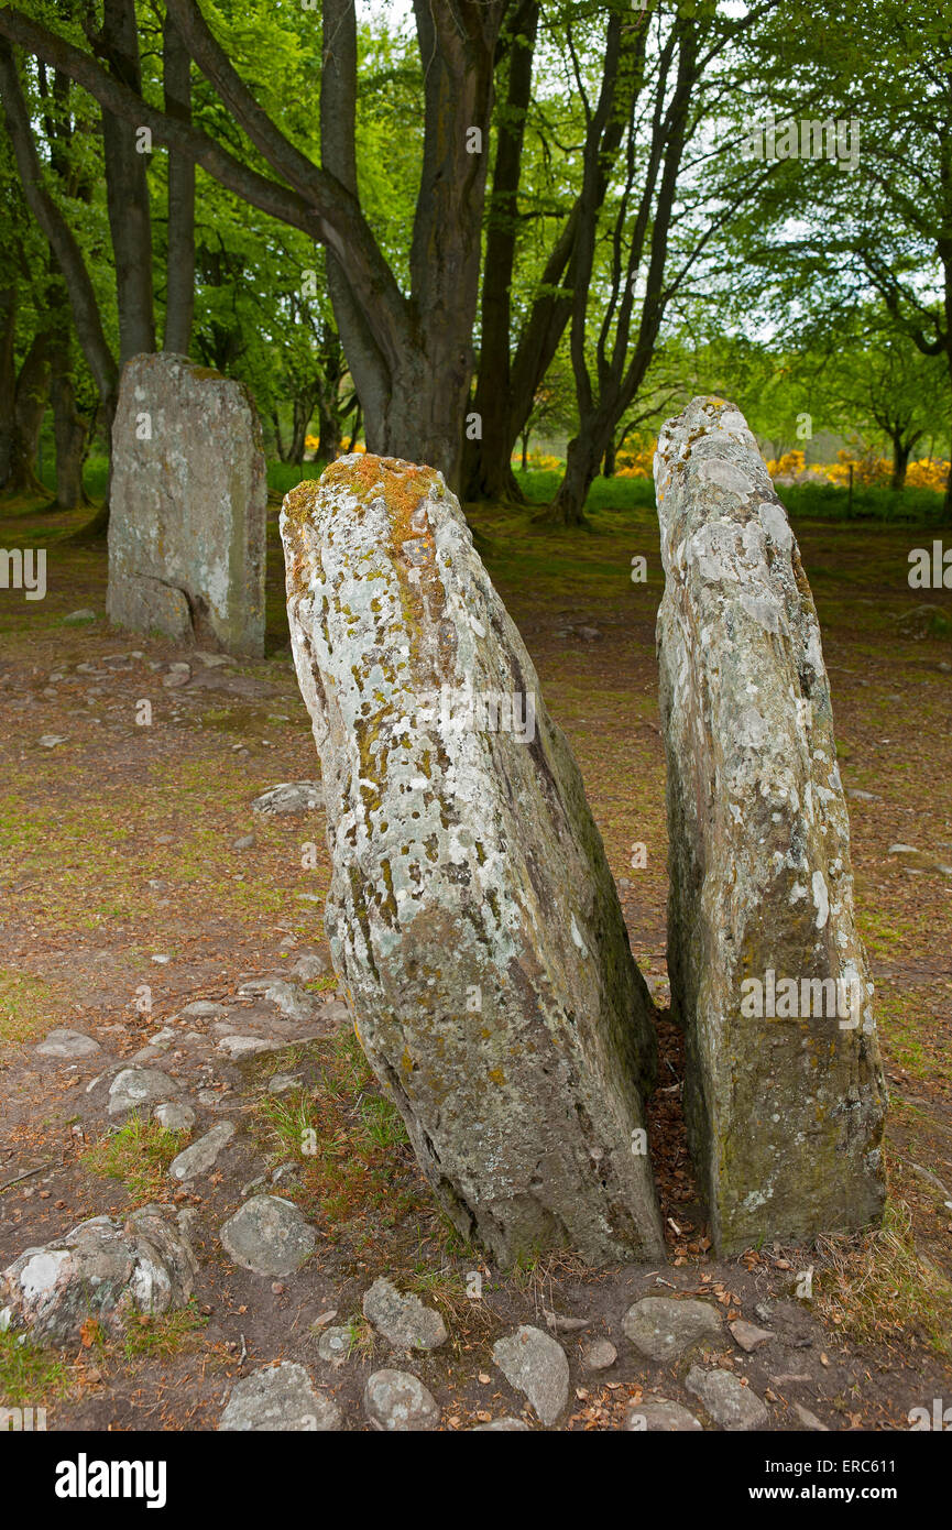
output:
M214 1001L243 1034L266 1034L272 1013L240 996L240 984L288 970L302 953L326 956L323 812L251 811L277 782L318 776L289 659L274 517L272 508L268 656L207 666L107 627L104 546L64 545L66 520L35 505L0 506L3 546L49 539L46 598L0 592L0 1268L86 1216L148 1201L194 1210L201 1268L185 1313L142 1320L124 1340L92 1322L75 1353L60 1356L0 1336L0 1405L44 1403L51 1429L214 1429L234 1379L289 1359L335 1398L347 1429L369 1427L361 1392L381 1365L412 1369L430 1388L444 1429L500 1415L540 1427L491 1346L516 1323L545 1327L546 1314L560 1314L588 1327L557 1330L574 1388L559 1427L623 1427L629 1405L654 1395L704 1417L684 1389L695 1357L655 1365L623 1334L632 1300L672 1291L710 1297L725 1322L768 1322L773 1339L753 1354L724 1327L709 1357L765 1400L771 1429L906 1429L911 1408L952 1400L952 644L943 635L952 594L931 592L924 603L935 610L909 615L923 601L906 584L908 552L931 534L796 528L820 612L843 780L865 794L851 796L849 811L891 1091L886 1222L813 1248L767 1244L716 1261L684 1144L681 1036L663 1013L657 528L647 514L606 511L589 532L540 534L528 516L473 513L491 577L582 765L632 950L661 1011L650 1140L669 1262L591 1271L565 1255L502 1276L435 1207L331 975L309 984L320 1034L300 1042L288 1028L285 1051L233 1062L211 1022L181 1017L193 1001ZM646 584L631 581L635 554L647 557ZM99 620L64 624L83 607ZM61 742L41 742L51 736ZM248 835L254 843L236 848ZM644 869L631 864L637 843L647 849ZM897 843L917 854L891 854ZM303 857L305 845L317 852ZM54 1027L95 1037L101 1053L38 1056ZM220 1118L237 1126L214 1172L191 1189L165 1172L188 1135L145 1121L110 1135L106 1114L112 1073L162 1028L174 1040L155 1065L193 1105L199 1091L205 1102L191 1140ZM275 1095L268 1083L279 1069L298 1083ZM300 1152L302 1126L315 1129L315 1155ZM242 1189L282 1164L282 1193L305 1210L318 1245L297 1274L271 1281L231 1264L217 1230ZM808 1270L813 1294L799 1297ZM478 1300L467 1294L471 1271L482 1278ZM361 1316L378 1274L438 1307L450 1343L395 1357ZM317 1353L331 1320L352 1334L337 1369ZM609 1371L583 1368L592 1337L614 1342Z

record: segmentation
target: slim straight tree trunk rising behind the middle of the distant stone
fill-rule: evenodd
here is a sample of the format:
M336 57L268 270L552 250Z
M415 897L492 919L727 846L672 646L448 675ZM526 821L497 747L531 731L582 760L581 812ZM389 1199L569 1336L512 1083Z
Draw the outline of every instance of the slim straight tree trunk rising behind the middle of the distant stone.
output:
M165 112L191 121L191 58L182 35L165 17L162 54ZM168 151L168 254L165 262L164 349L188 355L194 315L194 161Z

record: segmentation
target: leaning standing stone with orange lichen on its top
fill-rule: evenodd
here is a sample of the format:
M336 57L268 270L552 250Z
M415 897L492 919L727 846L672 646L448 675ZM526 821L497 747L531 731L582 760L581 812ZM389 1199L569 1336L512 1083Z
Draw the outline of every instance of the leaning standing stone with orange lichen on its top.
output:
M568 744L439 473L347 456L285 499L321 757L326 930L436 1193L504 1264L661 1252L652 1002ZM634 1151L632 1151L634 1149Z

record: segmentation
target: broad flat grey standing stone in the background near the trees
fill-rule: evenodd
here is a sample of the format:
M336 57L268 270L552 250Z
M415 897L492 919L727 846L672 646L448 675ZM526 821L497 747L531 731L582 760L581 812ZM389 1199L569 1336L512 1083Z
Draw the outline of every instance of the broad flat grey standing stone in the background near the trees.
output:
M187 356L133 356L112 441L109 620L262 655L268 483L248 390Z

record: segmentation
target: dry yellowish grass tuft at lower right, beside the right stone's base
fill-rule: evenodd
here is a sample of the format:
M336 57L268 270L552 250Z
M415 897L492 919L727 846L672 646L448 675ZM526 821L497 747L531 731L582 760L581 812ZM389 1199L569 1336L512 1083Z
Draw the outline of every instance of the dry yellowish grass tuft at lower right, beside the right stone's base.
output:
M817 1305L839 1333L860 1343L915 1334L952 1354L952 1284L917 1253L905 1201L886 1204L882 1227L820 1238L817 1250Z

